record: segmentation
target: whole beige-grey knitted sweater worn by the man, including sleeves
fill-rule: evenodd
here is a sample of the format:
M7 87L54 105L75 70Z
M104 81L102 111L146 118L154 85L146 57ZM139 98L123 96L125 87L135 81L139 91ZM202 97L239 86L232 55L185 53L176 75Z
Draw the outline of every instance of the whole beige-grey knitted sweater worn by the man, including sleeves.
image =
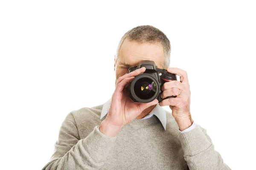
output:
M153 115L106 136L98 130L102 106L66 116L43 170L230 170L200 125L180 133L166 111L166 130Z

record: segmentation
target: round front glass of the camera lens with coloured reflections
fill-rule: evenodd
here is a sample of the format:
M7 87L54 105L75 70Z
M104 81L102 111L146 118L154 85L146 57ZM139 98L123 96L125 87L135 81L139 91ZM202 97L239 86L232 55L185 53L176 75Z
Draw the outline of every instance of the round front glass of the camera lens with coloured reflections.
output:
M156 93L155 82L147 77L138 79L134 85L134 92L140 99L150 99Z

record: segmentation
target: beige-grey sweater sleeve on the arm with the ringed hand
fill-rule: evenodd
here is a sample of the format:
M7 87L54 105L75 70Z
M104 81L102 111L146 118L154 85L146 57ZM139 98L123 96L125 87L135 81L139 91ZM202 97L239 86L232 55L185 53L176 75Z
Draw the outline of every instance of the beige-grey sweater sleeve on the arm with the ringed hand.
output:
M207 130L200 125L185 133L179 133L181 146L189 170L231 170L214 149Z

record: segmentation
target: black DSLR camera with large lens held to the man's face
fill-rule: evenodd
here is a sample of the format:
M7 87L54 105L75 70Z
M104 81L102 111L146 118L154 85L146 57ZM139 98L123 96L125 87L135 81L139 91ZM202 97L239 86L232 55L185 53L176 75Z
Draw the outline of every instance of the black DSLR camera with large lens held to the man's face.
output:
M134 102L148 103L154 99L161 102L162 86L165 82L177 80L176 74L169 73L166 69L157 68L154 61L143 60L137 66L129 68L129 73L139 68L145 67L143 74L136 76L131 82L130 98ZM168 96L167 98L175 98Z

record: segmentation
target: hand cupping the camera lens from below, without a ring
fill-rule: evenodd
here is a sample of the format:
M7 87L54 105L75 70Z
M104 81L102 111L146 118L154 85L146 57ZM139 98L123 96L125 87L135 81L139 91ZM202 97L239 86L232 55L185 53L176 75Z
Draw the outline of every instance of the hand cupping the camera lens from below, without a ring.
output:
M142 67L118 78L108 115L99 125L100 132L107 136L116 136L122 127L136 119L142 111L158 103L157 99L149 103L134 102L129 96L131 81L145 70L146 68Z

